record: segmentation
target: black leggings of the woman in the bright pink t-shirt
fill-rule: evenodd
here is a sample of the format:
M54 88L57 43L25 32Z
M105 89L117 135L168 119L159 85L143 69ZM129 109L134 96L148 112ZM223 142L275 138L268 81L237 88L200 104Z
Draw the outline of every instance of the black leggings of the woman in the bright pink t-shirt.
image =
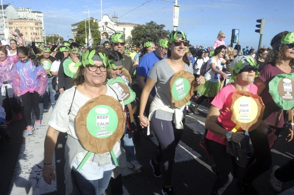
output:
M214 194L223 194L228 185L233 181L233 178L241 178L245 168L240 167L235 157L229 155L226 151L226 146L218 142L207 140L207 145L211 151L218 176L213 185Z

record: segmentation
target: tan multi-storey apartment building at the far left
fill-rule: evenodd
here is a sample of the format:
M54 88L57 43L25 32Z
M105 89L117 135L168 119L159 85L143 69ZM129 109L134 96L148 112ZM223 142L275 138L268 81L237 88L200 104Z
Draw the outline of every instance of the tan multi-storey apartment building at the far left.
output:
M27 18L19 18L19 19L11 19L7 20L7 28L9 31L15 30L16 28L20 31L22 38L25 43L31 44L33 38L33 33L37 34L36 42L44 42L43 40L43 28L42 21L36 19L27 19ZM14 35L9 33L9 39L14 39Z

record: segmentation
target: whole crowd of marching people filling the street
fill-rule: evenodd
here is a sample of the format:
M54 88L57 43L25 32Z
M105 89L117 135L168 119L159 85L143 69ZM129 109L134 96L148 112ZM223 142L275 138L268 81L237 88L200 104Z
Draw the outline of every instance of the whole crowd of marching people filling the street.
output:
M22 38L13 34L18 40L11 39L10 45L0 47L0 136L10 141L9 123L13 112L18 120L22 119L21 105L27 136L41 128L39 101L43 102L43 112L53 107L44 143L43 177L48 184L56 180L52 164L54 149L59 133L67 133L66 194L77 189L80 194L101 195L108 185L112 194L123 194L123 165L134 170L143 167L136 158L135 148L141 135L156 136L159 146L149 163L154 177L163 177L161 194L174 194L173 163L185 115L199 114L198 107L204 100L210 110L200 145L213 157L215 164L211 169L216 173L208 194L223 194L233 178L238 178L240 194L258 194L252 184L271 168L270 150L281 130L288 131L286 141L293 139L293 116L281 110L269 93L269 82L275 76L294 72L293 32L275 35L272 49L263 46L257 52L253 47L241 49L239 42L234 49L232 45L226 46L223 31L218 33L213 46L207 48L198 45L194 48L182 31L145 40L140 47L127 47L121 33L110 37L102 33L100 44L94 48L81 47L73 39L62 44L59 39L54 45L52 42L48 46L36 45L36 34L32 44L25 46ZM191 93L185 94L188 98L181 101L171 92L178 74L191 81ZM236 91L257 94L265 105L262 122L252 131L242 128L232 131L236 124L231 121L232 111L228 108ZM86 126L90 132L90 126L87 115L81 118L81 112L86 109L83 114L90 113L91 102L95 101L108 107L116 105L118 124L110 139L106 140L106 136L92 143L91 136L88 137L90 145L95 146L88 149L83 142L86 133L81 131ZM83 118L85 124L80 121ZM97 126L102 123L98 118ZM92 137L98 138L98 133ZM241 155L248 161L238 156L240 146L247 148ZM100 150L103 147L108 150ZM97 150L101 152L93 152ZM293 159L281 167L273 167L270 184L275 191L281 191L282 182L294 179L293 167Z

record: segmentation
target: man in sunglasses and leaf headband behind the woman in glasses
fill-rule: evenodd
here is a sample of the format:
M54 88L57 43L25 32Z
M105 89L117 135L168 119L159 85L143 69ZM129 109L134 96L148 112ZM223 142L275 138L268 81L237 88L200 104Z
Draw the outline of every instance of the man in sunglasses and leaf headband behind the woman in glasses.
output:
M126 44L123 34L113 33L110 37L110 43L113 51L118 51L123 55L123 67L127 69L131 77L133 78L133 61L130 57L127 57L125 54L123 54Z

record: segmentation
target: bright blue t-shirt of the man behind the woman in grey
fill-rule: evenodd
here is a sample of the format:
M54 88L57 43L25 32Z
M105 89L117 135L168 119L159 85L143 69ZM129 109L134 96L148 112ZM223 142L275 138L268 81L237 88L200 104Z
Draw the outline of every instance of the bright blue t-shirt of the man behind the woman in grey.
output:
M149 73L153 67L153 65L158 62L159 60L161 60L160 57L157 57L156 54L155 54L155 51L153 52L150 52L148 54L145 54L141 59L140 59L140 62L139 62L139 65L137 67L137 74L140 75L140 76L143 76L145 79L144 79L144 82L146 83L147 81L147 78L149 76ZM156 95L156 91L155 91L155 87L152 88L151 90L151 95L153 97L155 97Z

